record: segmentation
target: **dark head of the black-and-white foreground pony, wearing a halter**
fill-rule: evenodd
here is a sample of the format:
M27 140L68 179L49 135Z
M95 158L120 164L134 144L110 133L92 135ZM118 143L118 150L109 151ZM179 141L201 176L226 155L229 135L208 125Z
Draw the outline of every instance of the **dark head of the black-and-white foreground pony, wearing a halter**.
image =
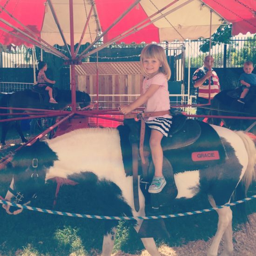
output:
M5 170L6 174L13 175L5 200L18 204L29 203L44 185L47 169L53 166L55 160L58 160L56 154L39 140L18 151ZM7 205L3 207L9 214L21 212Z

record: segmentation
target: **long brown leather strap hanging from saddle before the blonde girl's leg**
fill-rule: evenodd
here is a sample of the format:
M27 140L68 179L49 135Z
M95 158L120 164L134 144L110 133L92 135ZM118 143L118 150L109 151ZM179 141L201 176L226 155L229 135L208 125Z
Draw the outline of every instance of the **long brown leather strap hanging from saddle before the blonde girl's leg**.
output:
M139 188L138 188L138 145L137 143L132 144L132 155L133 155L133 198L134 208L138 212L140 210L139 202Z

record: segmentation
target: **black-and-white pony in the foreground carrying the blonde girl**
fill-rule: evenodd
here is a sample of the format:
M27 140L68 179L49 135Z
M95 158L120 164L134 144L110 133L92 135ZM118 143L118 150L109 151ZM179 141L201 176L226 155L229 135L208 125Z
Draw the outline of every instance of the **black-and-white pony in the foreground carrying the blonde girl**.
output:
M201 123L201 122L200 122ZM221 139L224 151L220 161L198 161L209 158L212 154L198 152L195 143L189 148L173 149L164 152L179 158L172 162L178 199L193 199L198 193L208 197L210 204L223 205L232 200L235 190L240 199L252 182L256 163L256 148L250 138L243 132L234 132L227 128L202 123L202 130L212 129ZM203 135L202 144L209 148L212 144L211 134ZM208 136L208 138L207 138ZM182 151L175 151L182 150ZM187 152L195 151L194 156ZM199 150L200 151L200 150ZM186 155L187 154L187 155ZM191 159L195 162L191 162ZM190 158L190 159L188 159ZM55 177L74 182L70 192L60 190L60 197L65 197L65 205L56 205L56 210L100 216L145 216L145 200L139 189L140 209L134 208L133 177L126 175L121 152L121 137L115 128L84 128L58 136L52 140L37 141L32 146L22 148L14 155L13 161L1 175L13 174L13 180L6 195L6 200L27 203L33 195ZM94 190L93 190L94 189ZM42 190L41 190L42 191ZM64 191L64 190L63 190ZM100 195L101 203L90 209L90 202L82 193L94 191ZM239 194L240 193L240 194ZM19 196L18 196L19 195ZM22 196L20 196L22 195ZM77 196L75 196L77 195ZM75 198L75 202L74 202ZM36 201L33 203L36 205ZM18 214L21 209L4 205L9 214ZM205 208L209 208L207 204ZM171 213L171 212L170 212ZM218 227L208 256L216 256L222 236L224 250L222 255L232 255L232 211L229 207L217 209ZM115 240L116 221L106 221L108 229L103 239L102 255L110 256ZM136 231L142 221L137 221ZM141 238L142 243L152 256L160 256L154 239Z

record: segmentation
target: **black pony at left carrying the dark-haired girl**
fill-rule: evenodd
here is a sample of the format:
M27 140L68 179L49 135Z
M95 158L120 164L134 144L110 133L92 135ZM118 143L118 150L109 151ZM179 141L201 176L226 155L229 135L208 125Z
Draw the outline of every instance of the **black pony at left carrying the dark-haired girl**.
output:
M24 90L17 91L10 94L1 94L0 98L0 107L8 107L8 108L37 108L37 109L55 109L55 110L63 110L67 107L68 104L71 103L71 91L70 90L60 90L56 89L55 99L58 104L49 103L49 99L47 94L39 94L34 92L33 90ZM76 102L79 103L81 108L84 108L90 104L91 98L89 94L81 91L76 91ZM1 113L26 113L23 110L6 110L1 109ZM29 111L31 112L31 111ZM15 116L11 116L15 117ZM17 117L17 116L16 116ZM1 117L5 119L5 116ZM20 121L14 121L15 128L20 135L22 142L27 142L24 137L21 127ZM2 135L0 143L5 145L5 139L7 132L10 128L10 122L2 123Z

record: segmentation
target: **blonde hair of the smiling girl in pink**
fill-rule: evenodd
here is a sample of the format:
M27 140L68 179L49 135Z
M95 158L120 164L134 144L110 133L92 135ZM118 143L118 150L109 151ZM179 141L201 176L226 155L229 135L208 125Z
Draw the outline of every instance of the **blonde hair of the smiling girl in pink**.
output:
M145 68L143 67L144 59L157 59L160 61L162 67L159 67L159 70L162 74L164 74L167 80L171 77L171 69L168 65L166 54L164 49L156 44L150 44L143 48L141 51L141 72L144 76L148 76Z

